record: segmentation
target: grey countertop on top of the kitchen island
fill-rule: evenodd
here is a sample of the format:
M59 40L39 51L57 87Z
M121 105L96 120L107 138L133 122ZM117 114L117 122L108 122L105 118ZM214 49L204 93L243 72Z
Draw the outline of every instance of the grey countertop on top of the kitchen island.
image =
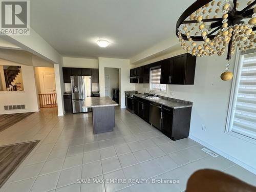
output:
M84 99L83 108L100 108L102 106L117 106L118 104L109 97L87 97Z

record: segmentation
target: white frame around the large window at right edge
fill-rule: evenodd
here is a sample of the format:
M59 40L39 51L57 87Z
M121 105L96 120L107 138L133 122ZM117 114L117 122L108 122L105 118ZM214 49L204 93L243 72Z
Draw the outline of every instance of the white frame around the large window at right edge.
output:
M250 138L246 135L242 135L236 132L232 131L232 120L234 116L234 107L236 103L236 98L237 98L237 93L238 93L238 85L240 82L240 76L242 66L243 66L243 60L244 60L244 55L241 54L241 51L237 49L236 51L236 60L234 63L234 71L233 71L233 80L232 80L232 87L230 91L230 98L229 98L229 105L228 105L228 113L227 113L227 121L226 121L226 128L225 128L225 133L234 137L237 137L239 139L243 139L245 141L248 141L250 143L256 144L256 139Z

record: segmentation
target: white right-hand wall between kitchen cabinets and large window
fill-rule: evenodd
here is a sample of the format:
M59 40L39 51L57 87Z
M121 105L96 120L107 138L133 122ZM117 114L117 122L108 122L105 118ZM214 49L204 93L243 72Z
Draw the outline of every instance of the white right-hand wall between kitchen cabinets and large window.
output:
M169 55L172 54L166 55L165 58ZM234 57L235 55L232 55L231 70ZM193 101L189 137L206 144L256 174L256 145L225 133L231 81L222 81L220 74L224 71L226 62L226 53L222 56L197 57L195 84L168 85L167 94L160 95ZM142 64L136 67L140 65ZM144 92L148 86L149 84L136 84L135 89ZM170 92L173 92L173 96L170 96ZM207 126L206 132L202 131L203 125Z

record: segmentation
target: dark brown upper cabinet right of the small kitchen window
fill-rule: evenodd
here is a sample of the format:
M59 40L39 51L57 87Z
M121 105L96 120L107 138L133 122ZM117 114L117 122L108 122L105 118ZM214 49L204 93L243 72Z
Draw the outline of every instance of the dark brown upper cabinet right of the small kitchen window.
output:
M194 84L196 56L188 53L162 60L161 84Z

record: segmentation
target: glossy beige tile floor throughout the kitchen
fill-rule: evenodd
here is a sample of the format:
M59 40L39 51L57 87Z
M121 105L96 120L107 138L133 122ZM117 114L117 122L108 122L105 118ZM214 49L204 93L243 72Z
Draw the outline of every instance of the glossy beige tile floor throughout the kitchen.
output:
M0 133L0 145L41 140L0 191L184 191L195 170L214 168L255 184L256 176L186 138L172 141L142 119L116 108L114 132L94 135L92 114L57 116L46 109ZM79 184L86 181L108 181ZM93 180L94 179L94 180ZM111 182L126 179L126 183ZM178 179L136 184L129 179ZM138 181L138 180L137 180Z

